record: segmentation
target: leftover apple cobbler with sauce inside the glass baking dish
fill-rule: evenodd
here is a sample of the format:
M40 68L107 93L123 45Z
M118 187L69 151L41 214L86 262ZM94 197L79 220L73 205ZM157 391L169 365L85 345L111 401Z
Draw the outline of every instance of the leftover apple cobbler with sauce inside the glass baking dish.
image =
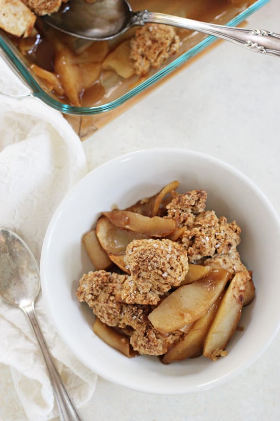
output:
M134 11L149 9L225 24L255 1L130 3ZM93 107L114 101L206 37L182 28L147 23L114 40L80 40L55 31L41 19L44 14L68 7L67 2L0 0L0 28L6 31L40 86L63 104Z

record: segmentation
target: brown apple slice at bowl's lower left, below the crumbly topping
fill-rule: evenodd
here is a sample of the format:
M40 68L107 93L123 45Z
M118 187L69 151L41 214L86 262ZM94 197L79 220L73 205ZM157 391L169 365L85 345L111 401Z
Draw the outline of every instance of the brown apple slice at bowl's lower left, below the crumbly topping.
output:
M107 343L107 345L120 351L126 357L132 358L138 355L137 351L132 349L128 336L116 332L115 329L105 325L97 317L94 320L93 331L100 339Z

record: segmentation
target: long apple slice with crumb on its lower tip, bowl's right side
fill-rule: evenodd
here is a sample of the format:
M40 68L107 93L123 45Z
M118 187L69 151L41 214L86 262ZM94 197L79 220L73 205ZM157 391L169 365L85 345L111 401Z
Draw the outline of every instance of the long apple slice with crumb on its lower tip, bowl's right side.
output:
M219 356L227 355L225 348L240 320L246 284L250 280L250 274L245 270L233 277L205 339L205 357L216 360Z

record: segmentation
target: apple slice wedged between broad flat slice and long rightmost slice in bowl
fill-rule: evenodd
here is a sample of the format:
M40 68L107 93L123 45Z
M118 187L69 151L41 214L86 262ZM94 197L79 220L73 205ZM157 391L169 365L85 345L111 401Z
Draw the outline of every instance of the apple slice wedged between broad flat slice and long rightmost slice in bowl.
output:
M182 361L189 357L199 357L203 353L204 341L214 320L219 301L218 298L207 313L194 322L187 335L163 356L164 364Z

